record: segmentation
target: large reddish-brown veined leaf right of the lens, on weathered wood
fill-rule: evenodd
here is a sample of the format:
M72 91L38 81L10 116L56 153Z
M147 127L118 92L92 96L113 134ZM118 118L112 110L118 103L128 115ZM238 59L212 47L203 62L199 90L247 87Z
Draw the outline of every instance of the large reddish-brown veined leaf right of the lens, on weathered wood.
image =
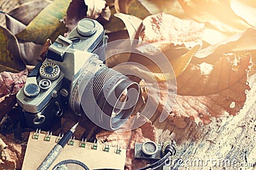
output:
M169 96L173 89L170 85L174 83L168 79L172 76L147 73L137 67L127 69L129 73L140 74L147 80L148 90L141 93L147 93L147 99L154 99L150 105L157 106L156 117L161 120L161 113L170 113L168 121L182 128L186 127L187 118L196 123L209 124L214 117L239 113L246 100L246 90L250 90L247 78L251 65L249 53L246 56L224 55L214 65L189 64L177 77L176 97ZM151 83L150 74L156 77L158 88Z

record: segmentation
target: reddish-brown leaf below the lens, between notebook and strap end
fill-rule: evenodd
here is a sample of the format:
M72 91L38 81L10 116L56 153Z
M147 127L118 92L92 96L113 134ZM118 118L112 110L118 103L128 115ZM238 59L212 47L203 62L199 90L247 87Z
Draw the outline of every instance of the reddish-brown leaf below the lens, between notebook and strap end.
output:
M156 129L151 124L150 121L147 121L143 126L126 132L118 131L102 131L99 134L96 134L96 138L100 143L108 141L109 145L117 146L122 144L122 148L125 148L126 151L126 162L125 169L138 169L145 167L148 164L146 160L137 160L134 159L134 145L135 143L143 143L145 141L157 141Z

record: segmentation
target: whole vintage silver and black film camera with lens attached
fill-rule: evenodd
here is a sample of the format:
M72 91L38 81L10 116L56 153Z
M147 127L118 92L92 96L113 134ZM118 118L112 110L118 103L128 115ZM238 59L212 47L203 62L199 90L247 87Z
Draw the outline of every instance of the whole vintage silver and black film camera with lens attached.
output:
M119 129L138 101L139 85L103 64L105 43L102 25L89 18L67 38L59 36L17 94L21 125L47 131L68 106L104 129Z

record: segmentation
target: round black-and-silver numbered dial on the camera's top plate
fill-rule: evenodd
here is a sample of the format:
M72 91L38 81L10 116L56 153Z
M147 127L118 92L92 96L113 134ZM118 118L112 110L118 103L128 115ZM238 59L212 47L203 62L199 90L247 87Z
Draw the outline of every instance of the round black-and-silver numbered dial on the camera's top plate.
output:
M46 62L40 67L39 73L42 78L54 81L60 76L60 67L52 62Z

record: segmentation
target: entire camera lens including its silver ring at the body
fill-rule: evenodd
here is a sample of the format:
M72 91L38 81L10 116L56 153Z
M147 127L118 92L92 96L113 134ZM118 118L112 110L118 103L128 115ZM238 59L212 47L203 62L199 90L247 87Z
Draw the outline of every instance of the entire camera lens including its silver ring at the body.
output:
M97 56L92 54L93 56ZM138 83L106 67L95 58L84 66L72 91L71 107L96 125L119 129L130 117L139 97Z

